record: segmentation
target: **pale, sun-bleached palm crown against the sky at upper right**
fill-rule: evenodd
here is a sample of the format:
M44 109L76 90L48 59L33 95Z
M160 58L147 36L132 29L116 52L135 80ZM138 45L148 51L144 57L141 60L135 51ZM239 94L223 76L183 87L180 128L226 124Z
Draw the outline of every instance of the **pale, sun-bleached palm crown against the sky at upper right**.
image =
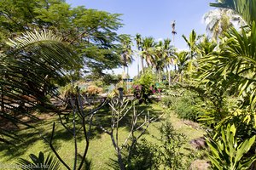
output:
M204 15L204 20L207 24L207 31L212 33L212 39L218 40L218 37L224 36L224 32L234 26L234 22L238 21L240 26L245 25L245 21L241 16L228 8L217 8L210 10Z

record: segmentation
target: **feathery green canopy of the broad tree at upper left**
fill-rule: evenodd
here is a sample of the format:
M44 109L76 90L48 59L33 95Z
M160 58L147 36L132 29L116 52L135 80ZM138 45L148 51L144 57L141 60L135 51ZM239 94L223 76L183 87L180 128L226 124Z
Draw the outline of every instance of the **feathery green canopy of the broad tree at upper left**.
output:
M0 48L8 48L4 40L23 31L51 30L73 45L84 59L85 71L102 72L120 65L119 16L82 6L71 8L63 0L3 0Z

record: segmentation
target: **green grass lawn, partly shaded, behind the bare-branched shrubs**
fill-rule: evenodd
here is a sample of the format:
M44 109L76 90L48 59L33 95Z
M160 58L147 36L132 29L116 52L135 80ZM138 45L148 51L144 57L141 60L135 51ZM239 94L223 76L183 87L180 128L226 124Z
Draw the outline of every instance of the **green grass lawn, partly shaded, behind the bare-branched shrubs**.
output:
M184 122L178 119L177 116L172 113L172 111L163 109L160 103L149 106L143 105L143 109L150 111L151 115L154 116L160 116L163 112L165 112L165 115L162 117L160 122L153 122L148 127L148 132L144 135L144 137L150 142L157 142L157 140L152 137L152 134L155 137L160 137L159 127L161 122L164 122L166 119L172 122L173 127L177 129L178 133L184 133L187 136L188 141L190 139L201 137L204 134L203 130L196 130L195 128L184 124ZM52 122L56 122L56 133L54 137L55 148L57 148L61 158L65 160L70 167L73 166L73 137L61 126L57 116L46 117L47 118L44 119L44 121L34 123L37 130L32 128L23 128L17 132L20 135L20 138L22 137L25 142L16 142L16 147L7 145L2 145L0 147L0 164L14 164L20 157L28 159L28 156L31 153L38 156L39 151L49 153L51 151L49 144L44 142L40 133L43 134L43 136L49 137ZM92 138L90 139L90 148L87 155L87 158L92 161L92 169L111 169L111 167L108 166L108 163L110 163L109 159L116 159L116 156L110 136L107 133L103 133L101 129L93 128L93 130L96 133L93 133ZM127 134L128 127L124 123L124 125L119 129L119 140L124 141ZM79 153L82 154L84 150L84 139L78 139L78 147ZM186 147L191 148L189 142L186 144ZM65 168L62 167L61 169Z

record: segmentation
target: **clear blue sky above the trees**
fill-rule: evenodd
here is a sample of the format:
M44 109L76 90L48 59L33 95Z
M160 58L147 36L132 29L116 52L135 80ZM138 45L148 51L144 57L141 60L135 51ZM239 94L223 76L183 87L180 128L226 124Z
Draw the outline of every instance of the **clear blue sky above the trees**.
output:
M182 35L186 37L195 29L198 34L206 33L206 25L202 23L203 14L213 9L209 3L215 0L67 0L73 7L84 5L85 8L95 8L109 13L123 14L122 23L125 26L119 33L143 37L152 36L172 39L173 20L176 20L175 47L187 48ZM173 44L173 42L172 42ZM130 66L130 76L137 74L137 59ZM122 69L115 70L120 73Z

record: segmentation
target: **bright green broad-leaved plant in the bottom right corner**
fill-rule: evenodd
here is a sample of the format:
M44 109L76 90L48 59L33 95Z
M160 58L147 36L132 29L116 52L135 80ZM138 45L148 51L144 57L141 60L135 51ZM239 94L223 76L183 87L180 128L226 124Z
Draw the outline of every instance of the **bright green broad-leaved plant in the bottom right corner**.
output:
M236 127L228 124L222 127L221 136L217 139L207 139L207 144L211 150L209 159L212 162L212 169L218 170L240 170L249 169L256 156L247 156L255 142L256 136L237 142Z

